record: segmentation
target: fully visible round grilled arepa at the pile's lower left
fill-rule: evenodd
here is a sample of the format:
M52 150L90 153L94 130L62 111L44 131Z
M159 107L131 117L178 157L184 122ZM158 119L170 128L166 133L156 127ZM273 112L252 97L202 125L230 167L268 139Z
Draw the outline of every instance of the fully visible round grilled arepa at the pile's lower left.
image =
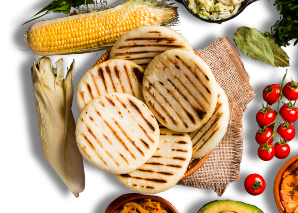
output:
M89 102L76 125L83 157L102 170L124 174L142 166L159 144L159 127L134 96L108 93Z

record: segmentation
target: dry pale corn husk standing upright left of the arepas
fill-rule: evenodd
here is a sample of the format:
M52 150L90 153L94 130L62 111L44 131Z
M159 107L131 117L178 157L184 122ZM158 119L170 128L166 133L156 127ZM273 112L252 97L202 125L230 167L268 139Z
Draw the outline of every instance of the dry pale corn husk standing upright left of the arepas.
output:
M31 76L43 155L77 198L85 189L85 171L75 140L75 119L71 110L75 59L65 79L62 62L63 59L59 59L57 69L51 69L51 60L43 57L38 60L38 70L34 60Z

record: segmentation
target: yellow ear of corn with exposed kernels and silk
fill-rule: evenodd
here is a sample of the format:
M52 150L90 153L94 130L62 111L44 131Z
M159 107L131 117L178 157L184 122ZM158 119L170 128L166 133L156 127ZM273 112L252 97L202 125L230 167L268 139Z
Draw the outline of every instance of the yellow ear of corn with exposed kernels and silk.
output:
M108 50L125 32L147 25L176 24L165 1L129 0L107 10L41 21L24 35L36 55L69 55Z

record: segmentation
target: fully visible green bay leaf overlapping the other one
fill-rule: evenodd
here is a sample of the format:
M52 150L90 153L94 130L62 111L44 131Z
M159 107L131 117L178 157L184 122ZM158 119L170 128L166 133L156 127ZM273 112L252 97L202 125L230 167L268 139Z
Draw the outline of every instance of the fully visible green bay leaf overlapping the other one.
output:
M271 47L256 28L238 27L234 33L234 40L243 54L274 67Z

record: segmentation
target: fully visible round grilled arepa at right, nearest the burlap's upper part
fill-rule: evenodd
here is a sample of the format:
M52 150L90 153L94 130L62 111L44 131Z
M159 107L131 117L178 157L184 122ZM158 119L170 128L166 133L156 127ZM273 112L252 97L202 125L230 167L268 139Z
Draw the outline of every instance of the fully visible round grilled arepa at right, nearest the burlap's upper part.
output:
M167 50L146 68L143 94L162 125L191 132L212 116L218 92L215 77L203 59L185 50Z

